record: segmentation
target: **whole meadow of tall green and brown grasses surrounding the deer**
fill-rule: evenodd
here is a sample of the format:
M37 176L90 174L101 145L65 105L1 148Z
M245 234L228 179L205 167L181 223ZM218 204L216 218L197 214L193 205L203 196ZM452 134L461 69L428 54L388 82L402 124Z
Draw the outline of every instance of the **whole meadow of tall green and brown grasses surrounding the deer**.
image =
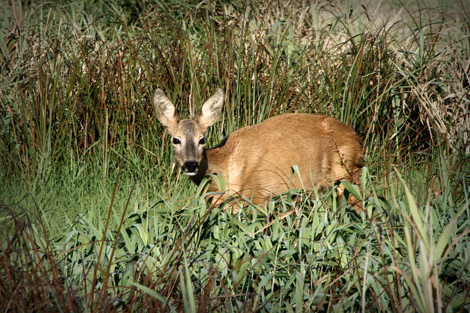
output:
M469 312L469 9L0 3L0 311ZM285 112L352 125L363 210L339 182L211 206L157 87L186 117L224 90L208 146Z

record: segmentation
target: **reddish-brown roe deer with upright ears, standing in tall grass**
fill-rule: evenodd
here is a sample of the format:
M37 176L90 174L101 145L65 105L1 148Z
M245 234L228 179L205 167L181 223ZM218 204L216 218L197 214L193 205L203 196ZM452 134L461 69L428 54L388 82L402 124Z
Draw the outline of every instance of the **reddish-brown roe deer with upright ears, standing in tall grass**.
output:
M236 130L219 145L206 149L204 134L220 118L222 89L207 99L194 120L180 120L161 89L155 91L153 102L157 119L167 127L175 158L186 175L199 185L205 175L223 174L226 194L216 204L244 196L260 205L289 188L302 188L298 176L291 181L292 165L298 165L306 189L315 185L323 191L339 179L352 180L361 167L359 136L330 116L277 115ZM338 193L343 190L340 185ZM219 189L212 183L209 191ZM355 201L359 211L360 204Z

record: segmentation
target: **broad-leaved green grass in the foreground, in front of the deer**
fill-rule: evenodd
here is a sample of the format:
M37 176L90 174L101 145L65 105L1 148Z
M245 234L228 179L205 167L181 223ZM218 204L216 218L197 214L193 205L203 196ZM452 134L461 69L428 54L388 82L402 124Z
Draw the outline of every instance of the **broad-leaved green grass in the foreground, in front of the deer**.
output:
M181 211L164 201L121 216L110 208L117 232L82 214L55 238L4 206L2 303L49 312L464 312L468 202L418 207L405 189L395 204L366 198L360 216L330 195L295 190L235 216L207 210L204 198Z

